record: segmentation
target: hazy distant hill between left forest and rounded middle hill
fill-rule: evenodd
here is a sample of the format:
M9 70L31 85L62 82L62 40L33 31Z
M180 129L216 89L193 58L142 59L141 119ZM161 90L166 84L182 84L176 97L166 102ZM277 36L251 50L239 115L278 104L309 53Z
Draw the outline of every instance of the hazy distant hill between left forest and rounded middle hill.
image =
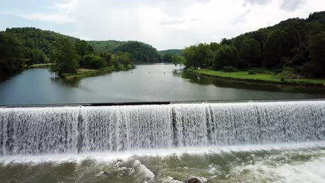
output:
M120 42L115 40L88 41L88 44L90 44L92 48L94 48L94 51L97 53L113 52L117 46L125 43L126 42Z

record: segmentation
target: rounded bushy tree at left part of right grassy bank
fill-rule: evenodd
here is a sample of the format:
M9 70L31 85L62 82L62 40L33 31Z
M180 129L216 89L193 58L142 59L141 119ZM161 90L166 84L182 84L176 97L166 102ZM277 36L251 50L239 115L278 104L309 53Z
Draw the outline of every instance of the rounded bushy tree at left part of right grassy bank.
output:
M238 51L235 46L223 45L213 56L213 69L238 67Z

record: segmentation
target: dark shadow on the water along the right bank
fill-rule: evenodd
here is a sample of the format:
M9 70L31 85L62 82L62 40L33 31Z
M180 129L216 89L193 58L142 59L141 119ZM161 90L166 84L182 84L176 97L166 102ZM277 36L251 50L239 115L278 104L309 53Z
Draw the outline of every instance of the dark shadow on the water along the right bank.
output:
M226 87L235 89L252 89L269 92L288 92L288 93L306 93L322 94L325 93L325 87L303 86L303 85L279 85L253 81L231 80L223 78L209 78L206 76L197 76L194 73L185 71L185 69L175 69L174 76L188 79L189 82L199 85L215 85L216 87Z

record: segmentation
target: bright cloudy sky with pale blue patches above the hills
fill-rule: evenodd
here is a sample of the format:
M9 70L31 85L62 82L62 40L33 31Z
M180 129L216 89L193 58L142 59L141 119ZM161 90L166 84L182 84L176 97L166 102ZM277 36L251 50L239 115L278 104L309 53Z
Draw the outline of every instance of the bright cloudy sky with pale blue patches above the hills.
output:
M1 0L0 30L33 26L158 50L219 42L325 10L324 0Z

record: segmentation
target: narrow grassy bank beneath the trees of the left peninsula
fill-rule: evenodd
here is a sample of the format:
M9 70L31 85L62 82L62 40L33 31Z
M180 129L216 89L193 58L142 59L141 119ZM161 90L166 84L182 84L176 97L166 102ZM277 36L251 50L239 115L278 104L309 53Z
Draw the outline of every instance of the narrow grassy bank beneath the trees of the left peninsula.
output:
M115 69L115 67L105 67L103 69L78 69L77 73L63 73L63 77L67 79L85 78L127 69L133 69L133 65L130 64L128 67L120 67L119 69Z

